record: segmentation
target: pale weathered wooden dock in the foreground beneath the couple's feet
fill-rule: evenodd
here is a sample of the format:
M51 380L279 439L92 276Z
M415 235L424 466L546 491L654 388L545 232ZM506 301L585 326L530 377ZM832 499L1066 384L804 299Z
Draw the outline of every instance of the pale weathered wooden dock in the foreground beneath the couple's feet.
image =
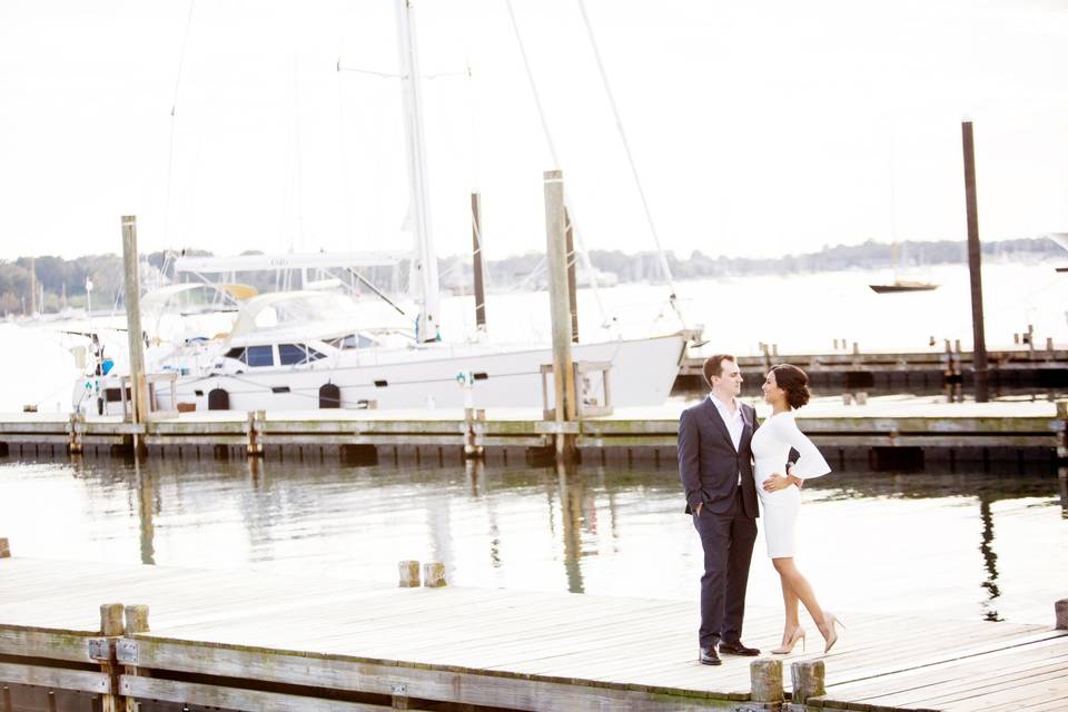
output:
M1061 627L841 612L831 654L780 659L783 696L767 663L696 662L695 600L0 557L0 709L1064 710L1066 606ZM744 637L781 627L751 610Z

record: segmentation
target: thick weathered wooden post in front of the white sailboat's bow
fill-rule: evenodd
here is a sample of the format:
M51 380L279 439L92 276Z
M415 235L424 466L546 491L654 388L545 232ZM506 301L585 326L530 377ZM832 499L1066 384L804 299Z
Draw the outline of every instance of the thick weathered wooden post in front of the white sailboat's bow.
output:
M575 419L575 370L571 359L571 306L567 299L567 237L564 214L564 174L546 170L545 239L548 263L548 300L553 322L553 386L556 423ZM573 435L556 434L556 458L575 459Z

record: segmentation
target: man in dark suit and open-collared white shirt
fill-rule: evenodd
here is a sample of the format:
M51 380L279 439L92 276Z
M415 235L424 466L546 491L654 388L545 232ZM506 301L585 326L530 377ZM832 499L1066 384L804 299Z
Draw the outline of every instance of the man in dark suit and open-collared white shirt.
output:
M759 425L753 407L738 400L742 374L733 356L716 354L703 370L712 393L679 419L679 475L704 550L699 660L719 665L716 646L723 654L760 654L741 641L759 516L749 445Z

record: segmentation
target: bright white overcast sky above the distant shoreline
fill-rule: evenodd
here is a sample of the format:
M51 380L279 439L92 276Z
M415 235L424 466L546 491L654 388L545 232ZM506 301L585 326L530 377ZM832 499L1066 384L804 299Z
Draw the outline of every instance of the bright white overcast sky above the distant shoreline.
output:
M543 249L506 3L414 1L438 254L469 249L473 189L491 257ZM587 247L652 249L577 2L513 4ZM963 239L965 117L982 237L1068 230L1068 2L586 9L680 256ZM142 251L409 245L397 80L338 58L396 71L393 0L2 0L0 258L118 253L125 214Z

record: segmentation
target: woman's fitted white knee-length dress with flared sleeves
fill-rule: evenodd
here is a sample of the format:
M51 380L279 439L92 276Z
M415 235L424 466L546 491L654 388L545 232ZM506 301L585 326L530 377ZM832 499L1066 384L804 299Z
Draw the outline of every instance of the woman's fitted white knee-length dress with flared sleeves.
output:
M794 477L811 479L831 472L823 455L815 448L804 433L798 429L793 412L778 413L764 421L752 441L753 477L756 479L756 494L760 496L764 518L764 540L768 542L768 556L781 558L793 556L794 525L801 512L801 491L790 485L778 492L765 492L764 479L772 473L785 474L787 457L790 448L798 451L800 457L793 465Z

